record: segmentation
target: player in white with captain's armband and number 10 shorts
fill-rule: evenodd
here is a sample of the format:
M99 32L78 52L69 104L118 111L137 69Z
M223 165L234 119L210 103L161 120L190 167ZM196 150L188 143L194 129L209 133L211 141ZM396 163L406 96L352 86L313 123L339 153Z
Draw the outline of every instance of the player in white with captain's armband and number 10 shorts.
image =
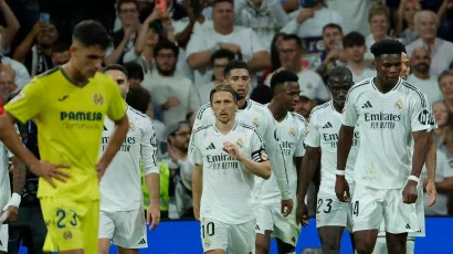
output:
M210 93L213 124L197 128L190 149L193 213L201 222L204 253L255 253L252 205L254 176L271 177L264 139L236 120L238 96L230 85Z

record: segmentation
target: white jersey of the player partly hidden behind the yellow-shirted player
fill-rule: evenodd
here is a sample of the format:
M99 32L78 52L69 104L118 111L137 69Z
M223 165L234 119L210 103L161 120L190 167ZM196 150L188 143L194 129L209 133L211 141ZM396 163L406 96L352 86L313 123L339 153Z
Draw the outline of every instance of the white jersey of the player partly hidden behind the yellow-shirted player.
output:
M127 106L129 131L101 180L101 210L106 212L141 209L141 167L145 176L159 173L156 161L157 141L151 119ZM115 123L105 118L101 152L107 147Z

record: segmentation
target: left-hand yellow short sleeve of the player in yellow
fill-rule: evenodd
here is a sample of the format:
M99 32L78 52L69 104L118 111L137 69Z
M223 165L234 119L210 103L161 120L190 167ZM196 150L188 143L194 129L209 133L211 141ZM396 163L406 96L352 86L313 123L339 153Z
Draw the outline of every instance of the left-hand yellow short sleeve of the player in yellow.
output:
M43 84L38 78L25 85L23 89L12 98L4 109L20 123L27 123L42 110Z

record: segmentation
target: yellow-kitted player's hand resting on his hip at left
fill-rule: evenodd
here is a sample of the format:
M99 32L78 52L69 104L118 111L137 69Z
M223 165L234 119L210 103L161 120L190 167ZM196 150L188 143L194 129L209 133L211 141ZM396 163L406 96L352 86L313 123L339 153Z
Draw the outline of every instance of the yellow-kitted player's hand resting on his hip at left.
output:
M30 167L30 171L38 177L44 178L53 188L56 188L53 179L61 182L66 182L71 176L60 169L69 169L71 166L66 163L50 163L48 161L40 161Z

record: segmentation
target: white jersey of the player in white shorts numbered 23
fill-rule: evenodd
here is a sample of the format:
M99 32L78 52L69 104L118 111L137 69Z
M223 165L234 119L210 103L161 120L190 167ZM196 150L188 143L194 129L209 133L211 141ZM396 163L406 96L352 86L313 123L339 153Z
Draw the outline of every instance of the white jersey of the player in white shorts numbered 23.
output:
M339 129L341 127L341 114L338 113L333 102L313 108L305 145L309 147L320 147L320 187L319 193L335 195L335 181L337 170L337 145ZM359 133L354 130L352 147L346 162L346 180L352 184L352 172L359 151Z

